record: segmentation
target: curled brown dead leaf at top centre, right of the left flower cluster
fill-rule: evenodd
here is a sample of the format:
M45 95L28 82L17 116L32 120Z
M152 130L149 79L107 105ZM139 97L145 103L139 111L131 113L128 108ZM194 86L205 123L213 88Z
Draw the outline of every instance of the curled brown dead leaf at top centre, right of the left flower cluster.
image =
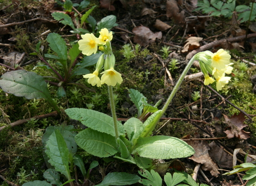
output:
M149 43L154 43L156 38L162 39L162 32L153 33L148 27L144 26L134 27L132 32L135 33L133 38L134 43L138 43L144 47Z

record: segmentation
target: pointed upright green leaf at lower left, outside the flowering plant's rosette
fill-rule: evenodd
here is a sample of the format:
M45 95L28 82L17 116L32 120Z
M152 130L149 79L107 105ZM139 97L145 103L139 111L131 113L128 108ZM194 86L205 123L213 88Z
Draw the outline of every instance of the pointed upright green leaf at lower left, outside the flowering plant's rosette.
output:
M60 131L55 129L46 141L45 153L50 158L49 163L55 167L56 171L70 178L69 171L69 151Z

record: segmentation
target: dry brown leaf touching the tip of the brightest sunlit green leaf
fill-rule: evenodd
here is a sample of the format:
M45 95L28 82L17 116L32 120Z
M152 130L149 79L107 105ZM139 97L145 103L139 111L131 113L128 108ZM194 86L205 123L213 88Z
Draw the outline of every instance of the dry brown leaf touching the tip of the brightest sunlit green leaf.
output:
M220 172L218 171L218 166L209 156L208 150L210 150L209 144L206 141L187 141L188 145L192 146L195 150L195 154L189 159L194 160L194 162L201 163L201 167L204 171L210 171L211 175L218 177Z

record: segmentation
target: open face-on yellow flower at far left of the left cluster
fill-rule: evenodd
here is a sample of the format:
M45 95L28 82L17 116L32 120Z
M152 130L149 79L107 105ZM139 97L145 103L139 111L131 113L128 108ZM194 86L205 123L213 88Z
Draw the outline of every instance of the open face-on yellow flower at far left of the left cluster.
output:
M92 53L96 54L98 49L99 39L93 33L86 33L81 35L83 39L78 41L79 50L82 50L84 55L90 56Z

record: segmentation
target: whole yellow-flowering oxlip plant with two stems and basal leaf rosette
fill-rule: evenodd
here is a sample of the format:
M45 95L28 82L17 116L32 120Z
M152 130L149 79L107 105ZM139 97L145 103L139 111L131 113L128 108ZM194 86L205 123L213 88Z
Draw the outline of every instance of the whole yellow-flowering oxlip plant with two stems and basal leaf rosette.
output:
M138 92L130 90L130 97L137 108L143 109L143 112L138 112L139 119L132 117L122 124L117 121L113 94L113 87L123 82L122 75L115 70L116 61L110 43L113 33L106 28L101 29L99 33L99 38L92 33L86 33L82 35L83 39L78 41L79 49L84 55L95 54L98 49L103 52L99 57L95 71L83 77L88 79L87 81L92 86L101 87L107 84L112 117L91 109L66 109L65 112L71 119L81 121L88 127L76 135L77 145L94 156L114 156L125 162L137 164L140 168L150 167L153 158L174 159L193 155L194 149L186 142L174 137L151 136L151 134L195 60L199 61L204 73L204 84L217 81L217 90L219 91L230 81L230 77L225 76L225 74L231 73L233 69L230 66L228 52L223 49L218 50L217 53L205 51L191 58L162 109L148 109L150 107L143 100L145 98L137 94ZM103 72L101 72L102 70ZM139 99L136 99L136 95ZM150 112L153 114L148 116L147 113ZM142 121L145 122L142 123Z

